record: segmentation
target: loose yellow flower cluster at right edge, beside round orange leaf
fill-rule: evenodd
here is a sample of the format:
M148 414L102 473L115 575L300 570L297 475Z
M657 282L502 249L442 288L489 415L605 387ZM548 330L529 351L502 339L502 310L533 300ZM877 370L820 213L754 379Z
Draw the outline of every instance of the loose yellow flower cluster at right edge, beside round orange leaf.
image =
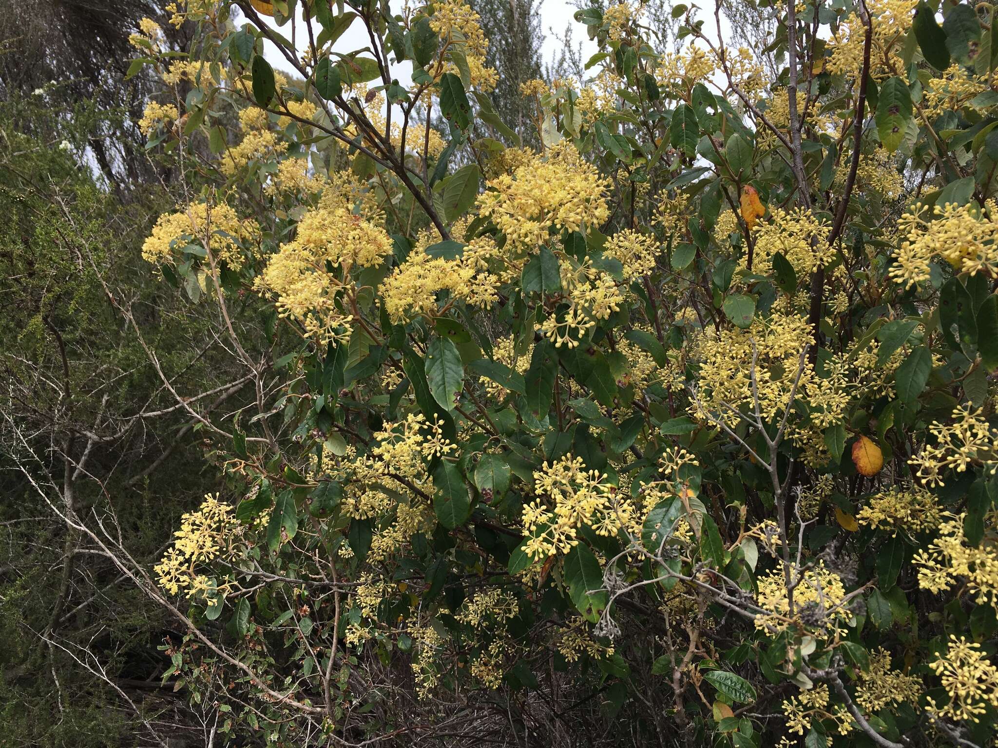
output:
M918 468L918 478L929 488L945 486L942 473L953 470L963 473L968 467L982 465L989 475L998 470L998 434L992 431L981 415L981 409L958 405L953 409L952 423L933 421L929 437L934 442L908 460Z

